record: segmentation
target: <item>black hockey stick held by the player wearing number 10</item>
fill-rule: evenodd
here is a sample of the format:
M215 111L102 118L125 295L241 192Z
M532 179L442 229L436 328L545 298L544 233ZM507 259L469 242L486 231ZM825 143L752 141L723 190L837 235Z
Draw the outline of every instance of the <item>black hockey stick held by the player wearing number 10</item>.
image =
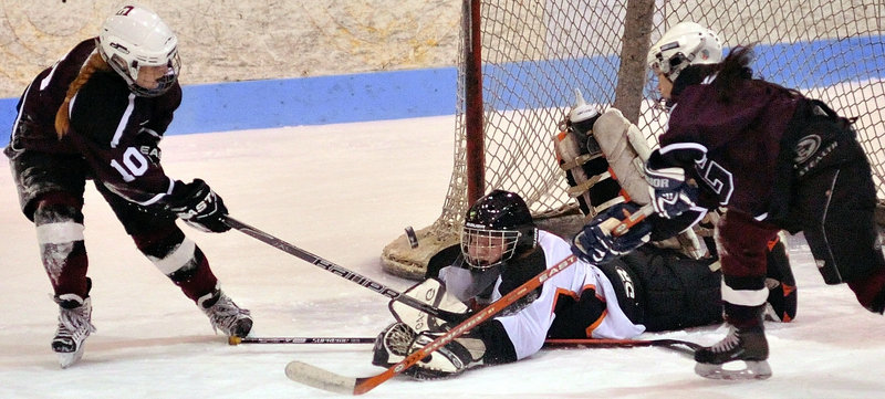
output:
M415 300L415 298L413 298L410 296L403 295L400 292L398 292L398 291L396 291L394 288L391 288L391 287L388 287L388 286L386 286L386 285L384 285L382 283L378 283L377 281L374 281L374 280L368 279L368 277L366 277L364 275L361 275L361 274L357 274L355 272L352 272L352 271L350 271L350 270L347 270L347 269L345 269L343 266L340 266L340 265L337 265L335 263L332 263L332 262L330 262L330 261L327 261L325 259L322 259L322 258L320 258L317 255L314 255L314 254L312 254L312 253L310 253L308 251L304 251L304 250L302 250L302 249L300 249L300 248L298 248L295 245L292 245L292 244L290 244L290 243L288 243L288 242L285 242L283 240L280 240L280 239L278 239L278 238L275 238L275 237L273 237L271 234L268 234L268 233L266 233L266 232L263 232L261 230L258 230L258 229L256 229L256 228L253 228L253 227L251 227L249 224L246 224L246 223L243 223L243 222L241 222L241 221L239 221L237 219L233 219L230 216L225 216L225 219L222 219L222 221L225 222L225 224L229 225L231 229L239 230L240 232L242 232L242 233L244 233L244 234L247 234L249 237L252 237L258 241L261 241L261 242L263 242L266 244L269 244L269 245L271 245L273 248L277 248L277 249L279 249L279 250L281 250L281 251L285 252L285 253L289 253L291 255L295 255L296 258L299 258L299 259L301 259L301 260L303 260L303 261L305 261L308 263L312 263L312 264L315 264L315 265L320 266L320 269L323 269L326 272L335 274L335 275L337 275L337 276L340 276L342 279L352 281L352 282L354 282L356 284L360 284L360 285L362 285L362 286L364 286L364 287L366 287L368 290L372 290L372 291L374 291L374 292L376 292L378 294L382 294L382 295L384 295L384 296L386 296L386 297L388 297L391 300L399 301L399 302L402 302L402 303L404 303L404 304L406 304L406 305L408 305L410 307L414 307L414 308L416 308L418 311L427 313L427 314L429 314L431 316L441 318L441 319L444 319L446 322L452 322L452 323L464 322L468 317L467 314L447 312L447 311L430 306L429 304L426 304L424 302Z

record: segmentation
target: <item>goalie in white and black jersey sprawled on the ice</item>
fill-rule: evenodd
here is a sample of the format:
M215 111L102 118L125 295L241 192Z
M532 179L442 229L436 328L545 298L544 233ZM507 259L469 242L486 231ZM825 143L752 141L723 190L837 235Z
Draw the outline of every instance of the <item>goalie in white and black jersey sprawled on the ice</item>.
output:
M597 219L617 216L621 212L615 210L626 206L613 207ZM650 229L650 222L637 224L617 238L618 245L643 244ZM442 267L438 279L428 276L404 294L446 311L468 312L500 298L572 254L569 242L535 228L518 195L501 190L480 198L467 211L460 249L460 256ZM710 267L714 261L693 260L652 245L606 264L579 260L404 374L433 379L476 366L517 361L540 350L546 338L634 338L646 330L720 322L720 275ZM787 270L789 273L789 265ZM792 275L788 277L792 285ZM783 298L783 294L773 290L772 297ZM794 311L795 296L790 300ZM779 307L783 304L778 301ZM448 327L397 301L391 303L391 311L397 323L375 342L372 363L376 366L393 366Z

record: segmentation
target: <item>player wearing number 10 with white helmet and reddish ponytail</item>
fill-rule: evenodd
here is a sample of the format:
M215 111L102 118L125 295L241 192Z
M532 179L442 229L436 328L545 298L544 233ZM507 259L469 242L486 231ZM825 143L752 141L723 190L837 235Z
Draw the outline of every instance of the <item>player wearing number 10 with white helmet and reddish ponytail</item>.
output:
M205 181L174 180L160 166L158 144L181 102L179 70L175 33L153 11L125 6L98 36L41 72L19 101L4 154L60 307L52 349L62 367L80 359L95 330L83 242L87 179L212 328L236 336L251 329L249 311L220 291L202 251L175 223L229 230L221 220L227 208Z

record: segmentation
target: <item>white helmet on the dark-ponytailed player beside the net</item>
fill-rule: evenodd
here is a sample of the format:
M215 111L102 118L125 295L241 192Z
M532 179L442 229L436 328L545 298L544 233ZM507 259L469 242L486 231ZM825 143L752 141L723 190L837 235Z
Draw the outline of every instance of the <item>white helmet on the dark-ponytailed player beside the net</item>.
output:
M648 67L664 73L670 82L688 65L722 61L722 41L711 29L695 22L679 22L648 50Z

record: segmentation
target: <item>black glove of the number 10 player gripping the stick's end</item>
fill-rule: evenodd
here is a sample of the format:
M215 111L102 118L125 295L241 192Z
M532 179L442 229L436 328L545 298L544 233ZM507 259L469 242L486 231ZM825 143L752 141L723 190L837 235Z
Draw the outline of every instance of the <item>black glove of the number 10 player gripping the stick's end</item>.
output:
M225 201L202 179L187 185L176 185L168 200L168 210L188 225L206 232L225 232L230 227L221 221L228 214Z

